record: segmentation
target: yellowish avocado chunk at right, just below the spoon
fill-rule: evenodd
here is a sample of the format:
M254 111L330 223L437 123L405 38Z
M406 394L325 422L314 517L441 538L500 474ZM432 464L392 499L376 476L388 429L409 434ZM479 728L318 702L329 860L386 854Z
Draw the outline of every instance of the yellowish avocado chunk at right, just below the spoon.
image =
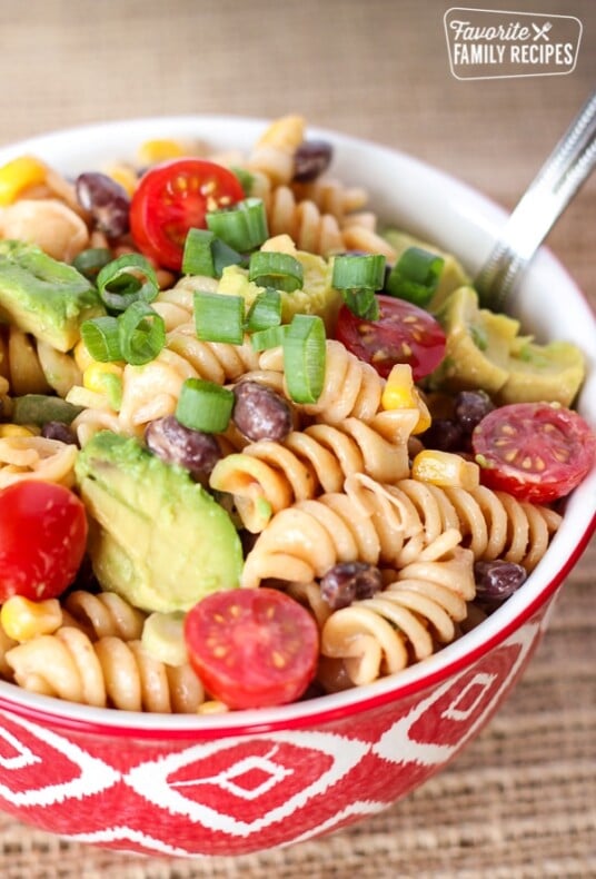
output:
M436 314L445 358L428 379L444 391L484 388L499 404L549 401L569 406L585 376L585 357L570 342L538 345L519 322L478 305L470 286L455 290Z

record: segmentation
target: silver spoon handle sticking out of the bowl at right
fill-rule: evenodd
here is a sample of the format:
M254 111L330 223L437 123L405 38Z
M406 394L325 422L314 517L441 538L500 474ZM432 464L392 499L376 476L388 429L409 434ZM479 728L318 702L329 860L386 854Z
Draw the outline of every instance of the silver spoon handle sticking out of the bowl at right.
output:
M596 167L596 92L586 101L513 210L474 284L480 304L506 312L546 235Z

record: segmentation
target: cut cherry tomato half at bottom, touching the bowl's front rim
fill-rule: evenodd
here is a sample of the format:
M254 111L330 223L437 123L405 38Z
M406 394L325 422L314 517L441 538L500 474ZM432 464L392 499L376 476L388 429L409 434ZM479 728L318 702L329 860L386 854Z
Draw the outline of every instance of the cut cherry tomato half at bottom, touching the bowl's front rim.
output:
M213 592L187 614L190 664L229 708L294 702L316 671L319 632L301 604L274 589Z

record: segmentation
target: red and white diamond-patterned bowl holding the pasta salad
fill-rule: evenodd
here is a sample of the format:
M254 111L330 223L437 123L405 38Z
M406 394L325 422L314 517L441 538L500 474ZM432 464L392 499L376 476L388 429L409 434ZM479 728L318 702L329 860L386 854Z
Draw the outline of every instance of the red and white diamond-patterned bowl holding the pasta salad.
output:
M248 150L266 122L234 117L115 121L0 150L67 175L133 156L150 138ZM505 223L479 192L415 158L309 130L335 146L334 176L364 186L381 218L455 253L474 275ZM516 313L538 340L596 354L596 324L546 249ZM592 359L578 408L596 423ZM145 855L205 857L298 843L366 819L439 772L490 721L538 645L595 526L596 473L523 589L458 641L403 673L298 703L212 715L95 709L0 683L0 809L60 837Z

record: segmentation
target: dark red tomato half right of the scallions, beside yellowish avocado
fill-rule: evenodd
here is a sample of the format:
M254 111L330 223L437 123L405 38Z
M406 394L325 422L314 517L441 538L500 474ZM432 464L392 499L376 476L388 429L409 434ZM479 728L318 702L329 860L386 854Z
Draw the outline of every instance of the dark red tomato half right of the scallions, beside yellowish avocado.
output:
M395 296L377 296L379 317L362 320L347 305L339 309L336 338L385 378L396 363L409 363L414 381L445 356L445 333L433 315Z

